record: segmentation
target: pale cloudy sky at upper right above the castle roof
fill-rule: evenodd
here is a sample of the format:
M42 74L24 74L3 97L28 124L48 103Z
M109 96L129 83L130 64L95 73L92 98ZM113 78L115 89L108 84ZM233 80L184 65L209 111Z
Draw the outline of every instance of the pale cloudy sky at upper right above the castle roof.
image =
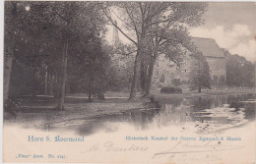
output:
M190 29L192 36L215 38L231 54L256 61L256 3L209 3L205 25Z

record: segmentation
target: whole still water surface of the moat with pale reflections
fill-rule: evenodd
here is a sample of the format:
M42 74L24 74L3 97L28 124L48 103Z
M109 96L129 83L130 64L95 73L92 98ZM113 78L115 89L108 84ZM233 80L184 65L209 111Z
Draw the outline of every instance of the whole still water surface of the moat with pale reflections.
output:
M213 133L254 120L255 99L253 94L178 99L161 103L160 109L132 109L88 120L73 120L65 128L72 128L80 135L98 131L113 133L123 125L137 131L177 126L182 131Z

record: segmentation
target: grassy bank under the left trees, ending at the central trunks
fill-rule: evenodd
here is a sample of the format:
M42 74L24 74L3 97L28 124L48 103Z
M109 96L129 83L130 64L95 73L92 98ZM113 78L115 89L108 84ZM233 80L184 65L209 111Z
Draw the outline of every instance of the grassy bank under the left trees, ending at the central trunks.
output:
M24 127L40 127L43 125L69 120L90 119L104 115L115 114L131 109L142 109L150 107L150 101L145 98L137 98L129 101L127 99L112 99L95 102L68 102L65 110L56 110L56 104L52 102L25 102L17 111L17 117L5 113L6 124L20 124Z

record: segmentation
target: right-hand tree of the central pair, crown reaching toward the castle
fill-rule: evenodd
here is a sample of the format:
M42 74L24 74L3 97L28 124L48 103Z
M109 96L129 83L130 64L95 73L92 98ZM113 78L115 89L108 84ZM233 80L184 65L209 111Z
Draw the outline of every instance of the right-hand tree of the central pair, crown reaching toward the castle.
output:
M199 26L203 23L202 15L205 12L206 3L175 3L171 4L166 10L172 10L173 14L168 16L167 20L162 20L161 15L159 24L151 29L152 53L148 69L146 88L144 96L150 94L151 82L153 78L154 66L159 54L165 54L166 59L175 63L179 67L187 51L198 53L196 47L191 42L191 37L187 31L187 27ZM166 15L169 11L162 10L161 13ZM163 17L163 19L165 19Z

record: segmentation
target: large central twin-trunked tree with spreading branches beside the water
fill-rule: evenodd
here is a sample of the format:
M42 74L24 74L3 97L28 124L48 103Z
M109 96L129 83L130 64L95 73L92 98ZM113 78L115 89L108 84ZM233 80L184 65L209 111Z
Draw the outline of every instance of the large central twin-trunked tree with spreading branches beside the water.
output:
M121 17L106 6L102 9L106 18L112 26L117 27L137 48L129 99L133 99L136 95L136 84L138 83L140 70L142 71L141 75L145 75L145 71L149 72L148 78L141 77L141 85L143 89L146 89L147 95L150 91L154 65L158 54L160 50L166 51L162 50L162 46L165 43L170 45L174 41L172 38L175 38L175 36L171 38L167 37L171 36L171 34L168 34L169 30L172 28L182 30L185 27L199 24L206 5L203 3L175 2L118 2L110 3L110 5L114 5L119 9L118 15ZM115 24L112 15L115 15L123 23L125 29ZM166 33L167 35L165 35ZM177 47L175 44L172 45L173 47ZM152 53L146 54L147 49L152 49ZM152 58L148 58L146 55L151 55ZM171 60L173 57L169 59ZM147 64L145 65L145 61L151 61L150 67ZM147 82L147 86L144 84L145 82Z

